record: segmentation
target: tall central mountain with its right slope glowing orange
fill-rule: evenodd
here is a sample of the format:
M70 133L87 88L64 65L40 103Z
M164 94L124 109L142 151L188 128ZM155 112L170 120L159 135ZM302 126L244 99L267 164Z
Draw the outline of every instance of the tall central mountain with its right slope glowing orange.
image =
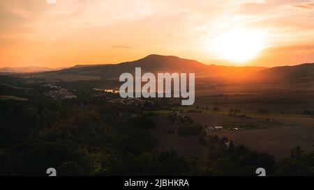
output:
M119 64L92 65L84 67L66 68L54 72L55 74L76 74L98 76L102 79L117 78L123 72L135 72L135 68L142 68L142 72L195 72L197 77L238 77L247 72L264 70L262 67L228 67L220 65L205 65L195 60L179 58L177 56L160 56L152 54L137 61Z

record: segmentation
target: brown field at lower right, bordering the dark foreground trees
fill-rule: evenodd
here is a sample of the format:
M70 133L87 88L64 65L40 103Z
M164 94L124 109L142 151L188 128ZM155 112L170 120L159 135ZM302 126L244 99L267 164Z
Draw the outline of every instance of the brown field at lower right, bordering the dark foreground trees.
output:
M314 145L314 127L289 126L269 129L214 132L226 136L237 145L246 145L251 150L268 152L281 160L290 155L290 150L300 145L311 151Z

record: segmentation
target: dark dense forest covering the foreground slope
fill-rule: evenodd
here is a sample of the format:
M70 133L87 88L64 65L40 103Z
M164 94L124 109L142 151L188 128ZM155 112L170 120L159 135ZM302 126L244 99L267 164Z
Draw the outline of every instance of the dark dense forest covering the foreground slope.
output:
M144 112L154 106L112 103L75 87L77 100L53 100L43 95L40 82L0 80L24 87L1 86L0 95L28 99L0 100L0 175L46 175L50 167L58 175L255 175L259 167L266 168L267 175L314 175L314 152L297 147L290 157L276 161L244 145L226 146L227 138L204 134L190 118L182 119L190 125L181 127L180 134L199 134L207 160L160 152L151 134L156 124ZM173 121L171 115L169 119Z

